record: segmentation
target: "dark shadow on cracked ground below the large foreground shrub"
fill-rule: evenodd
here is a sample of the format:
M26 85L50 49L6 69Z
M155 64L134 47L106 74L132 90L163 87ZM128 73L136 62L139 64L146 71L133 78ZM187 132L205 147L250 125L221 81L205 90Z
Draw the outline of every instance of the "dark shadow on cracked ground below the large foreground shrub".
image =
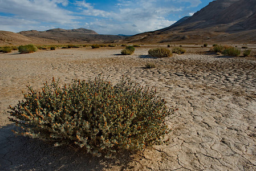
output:
M0 170L104 170L128 168L131 153L121 152L106 159L94 157L71 146L54 147L52 143L15 136L15 125L0 128Z

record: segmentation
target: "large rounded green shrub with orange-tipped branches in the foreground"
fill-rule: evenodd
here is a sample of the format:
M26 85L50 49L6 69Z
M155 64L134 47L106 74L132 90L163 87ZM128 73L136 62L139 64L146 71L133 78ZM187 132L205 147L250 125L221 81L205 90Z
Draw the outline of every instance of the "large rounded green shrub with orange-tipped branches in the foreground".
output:
M29 87L29 86L28 86ZM156 91L128 79L115 86L99 76L59 87L44 83L42 92L24 93L9 113L21 129L15 133L55 145L76 144L95 156L110 157L118 149L140 150L159 145L173 114Z

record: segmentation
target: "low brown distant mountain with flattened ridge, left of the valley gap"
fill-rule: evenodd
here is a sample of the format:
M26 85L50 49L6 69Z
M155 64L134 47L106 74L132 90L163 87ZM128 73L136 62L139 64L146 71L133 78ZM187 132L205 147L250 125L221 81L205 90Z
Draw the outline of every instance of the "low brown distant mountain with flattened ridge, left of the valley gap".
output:
M18 33L32 39L49 39L54 43L112 43L125 39L125 36L100 35L97 34L97 32L86 28L72 30L54 28L47 31L30 30Z

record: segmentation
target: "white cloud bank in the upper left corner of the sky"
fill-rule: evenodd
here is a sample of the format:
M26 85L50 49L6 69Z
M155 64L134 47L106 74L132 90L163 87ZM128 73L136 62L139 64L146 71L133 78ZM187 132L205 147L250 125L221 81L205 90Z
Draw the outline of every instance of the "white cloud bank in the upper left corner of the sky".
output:
M11 4L11 5L10 5ZM58 4L67 5L66 0L0 0L0 11L13 14L14 19L27 21L71 23L71 12L58 7Z

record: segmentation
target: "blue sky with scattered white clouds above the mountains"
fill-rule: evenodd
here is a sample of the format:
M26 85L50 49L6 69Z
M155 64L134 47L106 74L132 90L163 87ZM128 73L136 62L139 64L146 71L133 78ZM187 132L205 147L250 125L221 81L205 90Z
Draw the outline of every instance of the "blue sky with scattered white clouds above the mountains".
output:
M133 35L168 27L213 0L0 0L0 30L88 28Z

